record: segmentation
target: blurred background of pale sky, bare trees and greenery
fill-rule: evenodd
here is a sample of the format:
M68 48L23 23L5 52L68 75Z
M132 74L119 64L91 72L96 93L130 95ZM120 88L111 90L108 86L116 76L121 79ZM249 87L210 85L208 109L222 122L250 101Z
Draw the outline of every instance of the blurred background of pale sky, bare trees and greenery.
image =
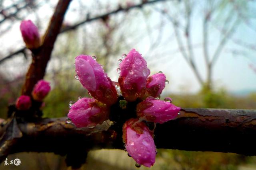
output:
M62 117L71 100L88 97L74 78L74 58L94 55L113 81L118 59L139 51L151 74L162 71L170 96L180 107L256 109L256 2L254 0L73 0L58 36L45 79L52 91L44 117ZM152 0L151 0L152 1ZM0 117L13 104L24 83L31 53L19 30L32 20L44 34L57 0L0 0ZM93 19L121 8L118 13ZM89 21L93 19L92 21ZM75 26L74 26L75 25ZM74 26L74 27L73 27ZM72 27L72 29L70 29ZM17 53L20 51L21 53ZM14 54L14 55L12 55ZM174 139L175 140L175 139ZM161 170L253 170L256 156L231 153L158 150ZM19 153L20 166L0 169L67 169L64 157L52 153ZM123 150L95 150L81 169L136 169Z

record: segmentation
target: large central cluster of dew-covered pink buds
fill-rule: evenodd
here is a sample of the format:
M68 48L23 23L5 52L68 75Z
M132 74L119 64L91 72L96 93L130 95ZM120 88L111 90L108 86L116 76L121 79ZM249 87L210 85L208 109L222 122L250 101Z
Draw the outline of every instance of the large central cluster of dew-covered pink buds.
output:
M125 111L130 106L129 103L135 103L134 113L136 112L137 118L130 115L124 120L122 138L128 155L136 161L136 165L150 167L155 162L156 147L154 130L150 130L147 122L170 121L178 115L180 107L174 106L171 98L159 100L162 90L168 84L166 76L162 72L149 76L150 70L140 53L132 49L127 55L122 55L122 58L118 60L118 82L112 82L96 62L95 56L76 57L75 77L93 98L80 97L77 102L72 101L67 123L92 128L108 119L112 121L112 108L118 106L119 110ZM116 91L119 89L118 85L122 94L120 96Z

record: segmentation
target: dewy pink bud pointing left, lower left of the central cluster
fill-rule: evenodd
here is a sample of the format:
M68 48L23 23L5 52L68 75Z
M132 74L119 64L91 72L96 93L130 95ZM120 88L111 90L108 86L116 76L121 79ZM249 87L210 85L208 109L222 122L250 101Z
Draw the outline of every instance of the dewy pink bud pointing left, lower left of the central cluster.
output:
M76 127L94 127L108 119L109 109L94 98L82 98L69 110L68 118Z

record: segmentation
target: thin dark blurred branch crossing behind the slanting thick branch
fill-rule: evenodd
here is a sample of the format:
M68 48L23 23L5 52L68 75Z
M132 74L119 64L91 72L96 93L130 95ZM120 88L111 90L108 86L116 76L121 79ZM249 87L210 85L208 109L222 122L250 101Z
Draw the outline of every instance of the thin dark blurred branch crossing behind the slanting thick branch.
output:
M96 16L96 17L93 17L93 18L86 18L85 20L81 21L81 22L78 22L72 26L67 26L65 27L64 29L62 29L60 31L60 33L64 33L66 31L71 31L71 30L74 30L76 29L77 27L79 27L80 25L83 25L84 23L87 23L87 22L90 22L90 21L94 21L94 20L99 20L99 19L102 19L102 18L106 18L110 15L113 15L113 14L117 14L119 12L127 12L131 9L134 9L134 8L142 8L144 5L148 5L148 4L154 4L156 2L162 2L162 1L167 1L167 0L151 0L151 1L144 1L142 2L141 4L138 4L138 5L134 5L134 6L129 6L129 7L126 7L126 8L123 8L123 7L119 7L118 9L116 10L113 10L111 12L108 12L106 14L102 14L100 16ZM3 59L0 60L0 64L5 61L6 59L10 59L12 58L14 55L20 53L21 51L24 51L24 49L26 49L26 47L23 47L22 49L19 49L17 51L15 51L14 53L11 53L9 54L8 56L4 57Z

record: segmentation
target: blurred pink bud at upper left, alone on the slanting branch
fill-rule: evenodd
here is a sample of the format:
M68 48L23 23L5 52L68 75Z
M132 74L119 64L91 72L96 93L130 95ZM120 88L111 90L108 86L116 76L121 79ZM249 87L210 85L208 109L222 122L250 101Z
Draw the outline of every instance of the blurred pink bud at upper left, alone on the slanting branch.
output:
M29 49L36 49L40 46L40 35L38 28L31 20L23 20L20 23L20 31L23 40Z

